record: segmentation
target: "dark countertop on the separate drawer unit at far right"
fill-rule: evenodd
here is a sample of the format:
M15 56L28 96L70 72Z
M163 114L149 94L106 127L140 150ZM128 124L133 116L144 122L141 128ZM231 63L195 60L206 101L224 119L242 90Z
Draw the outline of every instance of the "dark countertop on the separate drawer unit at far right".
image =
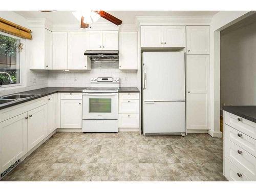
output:
M235 105L235 106L223 106L222 108L224 111L232 113L234 115L243 117L249 121L256 123L256 106L250 105Z

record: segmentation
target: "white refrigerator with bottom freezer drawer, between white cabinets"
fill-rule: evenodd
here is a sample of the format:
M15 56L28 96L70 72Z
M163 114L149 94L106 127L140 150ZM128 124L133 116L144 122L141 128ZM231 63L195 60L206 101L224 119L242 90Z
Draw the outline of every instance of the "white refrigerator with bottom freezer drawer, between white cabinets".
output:
M142 60L143 134L184 136L184 52L143 52Z

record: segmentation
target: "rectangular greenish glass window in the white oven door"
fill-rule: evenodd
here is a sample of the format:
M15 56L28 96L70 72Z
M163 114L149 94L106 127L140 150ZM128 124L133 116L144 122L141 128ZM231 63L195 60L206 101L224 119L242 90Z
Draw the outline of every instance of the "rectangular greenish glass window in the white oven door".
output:
M111 113L111 99L89 98L89 113Z

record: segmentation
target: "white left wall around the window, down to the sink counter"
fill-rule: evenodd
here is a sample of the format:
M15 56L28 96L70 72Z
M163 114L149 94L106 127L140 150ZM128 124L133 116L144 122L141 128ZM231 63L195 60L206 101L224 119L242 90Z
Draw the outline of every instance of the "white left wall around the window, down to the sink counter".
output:
M9 20L10 22L13 22L17 25L23 26L28 28L28 24L27 24L27 20L20 16L17 13L14 13L13 11L0 11L0 17ZM33 37L33 31L32 31L32 37ZM26 42L29 41L28 39L25 39L25 45L24 45L24 56L25 59L22 63L22 65L25 65L25 85L26 87L23 88L18 88L18 87L13 87L13 88L8 88L8 90L6 89L2 89L0 88L0 96L1 95L7 95L7 94L12 94L12 93L16 93L16 92L22 92L22 91L29 91L32 89L39 89L39 88L44 88L48 86L48 71L31 71L29 70L29 66L27 65L27 55L26 55ZM33 78L36 78L36 82L33 83Z

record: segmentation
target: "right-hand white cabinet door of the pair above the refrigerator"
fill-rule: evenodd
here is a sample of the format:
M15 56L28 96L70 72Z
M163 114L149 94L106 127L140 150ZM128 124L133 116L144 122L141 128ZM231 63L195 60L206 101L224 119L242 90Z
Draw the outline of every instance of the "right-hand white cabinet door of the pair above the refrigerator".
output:
M163 47L186 47L185 26L163 26Z

